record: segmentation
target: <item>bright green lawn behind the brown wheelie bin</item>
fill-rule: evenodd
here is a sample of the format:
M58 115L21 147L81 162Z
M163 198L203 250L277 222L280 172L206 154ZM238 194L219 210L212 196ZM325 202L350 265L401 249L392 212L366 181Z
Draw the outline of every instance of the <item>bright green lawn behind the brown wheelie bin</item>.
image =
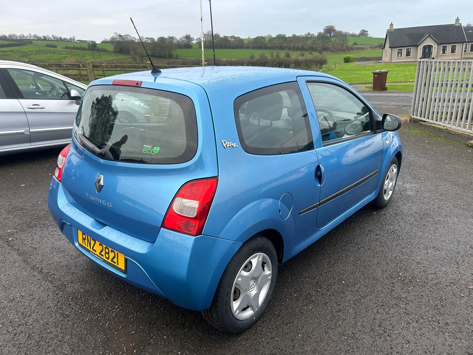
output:
M338 67L326 71L327 74L336 76L347 83L369 83L373 81L375 70L388 70L387 82L400 82L415 80L416 64L373 64L355 65L353 63L343 63Z

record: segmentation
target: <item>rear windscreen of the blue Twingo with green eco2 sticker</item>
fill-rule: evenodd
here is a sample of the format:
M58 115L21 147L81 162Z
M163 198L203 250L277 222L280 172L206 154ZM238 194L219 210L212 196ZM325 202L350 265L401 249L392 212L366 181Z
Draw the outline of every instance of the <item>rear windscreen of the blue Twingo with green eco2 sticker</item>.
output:
M74 124L78 133L115 161L178 164L197 151L192 100L174 92L98 85L90 87Z

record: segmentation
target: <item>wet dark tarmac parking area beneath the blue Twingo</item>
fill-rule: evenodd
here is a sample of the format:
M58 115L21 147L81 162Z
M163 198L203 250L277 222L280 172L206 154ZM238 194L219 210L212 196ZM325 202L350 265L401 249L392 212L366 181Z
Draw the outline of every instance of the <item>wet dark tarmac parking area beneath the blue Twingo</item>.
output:
M56 228L59 150L0 160L2 354L473 354L471 138L401 129L391 204L280 266L263 317L228 336L107 274Z

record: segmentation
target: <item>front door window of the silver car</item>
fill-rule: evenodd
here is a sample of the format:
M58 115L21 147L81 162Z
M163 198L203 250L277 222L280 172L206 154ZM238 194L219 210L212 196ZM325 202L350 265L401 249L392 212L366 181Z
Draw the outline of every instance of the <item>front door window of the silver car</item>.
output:
M24 98L69 99L69 90L60 79L36 71L7 69Z

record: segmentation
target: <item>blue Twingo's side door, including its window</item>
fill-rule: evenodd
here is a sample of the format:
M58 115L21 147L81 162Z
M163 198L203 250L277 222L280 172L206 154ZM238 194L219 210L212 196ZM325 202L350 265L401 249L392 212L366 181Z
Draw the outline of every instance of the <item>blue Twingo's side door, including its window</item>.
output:
M383 142L374 110L355 91L338 80L316 79L299 77L298 82L312 101L307 109L315 111L320 134L317 227L323 228L375 191Z

